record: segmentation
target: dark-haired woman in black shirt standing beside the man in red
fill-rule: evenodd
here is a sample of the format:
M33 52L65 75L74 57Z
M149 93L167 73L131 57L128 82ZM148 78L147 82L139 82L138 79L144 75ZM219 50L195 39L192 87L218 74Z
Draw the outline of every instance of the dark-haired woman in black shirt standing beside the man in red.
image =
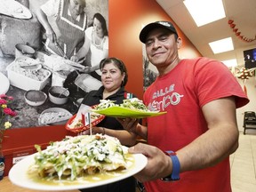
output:
M122 60L116 58L107 58L100 61L100 70L102 72L101 82L103 86L97 91L92 91L86 94L83 104L93 106L100 103L100 100L116 100L116 104L123 103L124 99L131 97L131 93L124 90L124 86L128 80L127 70ZM127 94L128 93L128 94ZM84 133L89 133L86 131ZM100 124L92 127L92 133L108 134L118 138L125 146L132 146L136 142L136 136L133 133L124 131L124 128L114 117L106 116ZM130 177L125 180L117 181L98 188L81 189L83 192L90 191L115 191L115 192L135 192L136 180Z

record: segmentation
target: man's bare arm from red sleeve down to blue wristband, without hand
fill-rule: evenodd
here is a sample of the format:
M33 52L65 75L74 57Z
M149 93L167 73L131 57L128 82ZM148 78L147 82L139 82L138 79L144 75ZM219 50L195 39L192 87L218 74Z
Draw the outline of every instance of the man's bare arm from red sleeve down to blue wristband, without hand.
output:
M202 109L209 130L177 151L183 172L218 164L238 148L235 99L213 100Z

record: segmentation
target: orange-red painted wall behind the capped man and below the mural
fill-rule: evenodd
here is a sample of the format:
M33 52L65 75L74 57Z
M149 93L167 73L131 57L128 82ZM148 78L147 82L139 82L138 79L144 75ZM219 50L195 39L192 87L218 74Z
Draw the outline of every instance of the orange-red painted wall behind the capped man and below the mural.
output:
M109 56L124 60L129 73L126 89L142 99L143 68L140 29L152 21L172 21L172 19L156 3L156 0L108 0L108 9ZM201 56L180 28L177 26L176 28L183 39L183 46L180 49L182 57ZM66 131L64 125L7 130L3 143L4 156L6 156L4 174L7 175L12 167L13 156L33 153L35 144L45 147L49 141L61 140L67 134L70 132Z

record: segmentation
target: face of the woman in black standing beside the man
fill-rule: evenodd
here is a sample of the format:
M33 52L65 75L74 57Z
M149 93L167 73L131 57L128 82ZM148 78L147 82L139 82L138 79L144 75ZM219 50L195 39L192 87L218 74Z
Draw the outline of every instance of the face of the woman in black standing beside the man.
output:
M101 82L111 92L121 87L124 76L114 63L108 63L102 68Z

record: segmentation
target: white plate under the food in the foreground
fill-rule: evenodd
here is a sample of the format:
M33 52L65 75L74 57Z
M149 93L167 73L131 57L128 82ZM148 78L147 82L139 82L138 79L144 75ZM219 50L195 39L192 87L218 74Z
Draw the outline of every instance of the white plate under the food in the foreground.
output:
M82 181L71 181L68 184L63 182L54 183L54 184L44 184L41 182L36 182L32 180L28 176L28 167L30 164L34 163L34 155L25 157L17 164L12 166L12 169L9 172L9 179L13 184L20 186L21 188L30 188L35 190L48 190L48 191L56 191L56 190L73 190L78 188L93 188L101 185L106 185L112 182L116 182L118 180L124 180L125 178L131 177L132 175L140 172L148 163L148 159L146 156L142 154L134 154L134 164L130 165L125 172L116 173L115 177L111 177L108 179L102 179L97 181L90 180L82 180Z

